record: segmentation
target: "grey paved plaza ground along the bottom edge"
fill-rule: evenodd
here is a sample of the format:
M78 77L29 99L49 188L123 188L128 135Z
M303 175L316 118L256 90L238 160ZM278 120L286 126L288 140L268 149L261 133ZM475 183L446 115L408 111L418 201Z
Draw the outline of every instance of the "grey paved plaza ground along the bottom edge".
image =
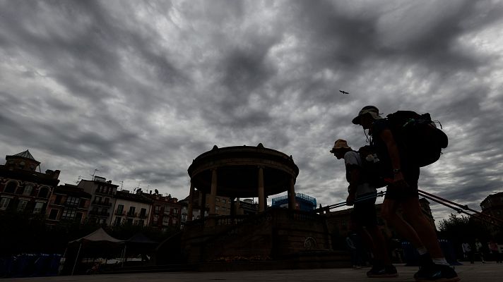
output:
M365 273L369 268L362 269L293 269L293 270L266 270L266 271L227 271L227 272L162 272L148 274L102 274L82 276L56 276L35 278L6 278L4 281L28 281L28 282L137 282L137 281L350 281L350 282L401 282L414 281L413 274L418 270L414 266L397 265L399 276L396 278L367 278ZM481 264L464 264L456 266L456 271L463 282L502 282L503 264L488 262Z

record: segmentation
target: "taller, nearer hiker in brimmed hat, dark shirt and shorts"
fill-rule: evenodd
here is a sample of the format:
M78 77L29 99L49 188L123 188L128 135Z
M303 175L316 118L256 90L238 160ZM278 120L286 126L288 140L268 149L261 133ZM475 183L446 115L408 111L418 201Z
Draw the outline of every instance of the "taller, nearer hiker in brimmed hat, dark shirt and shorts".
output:
M391 121L379 115L376 106L363 107L358 116L353 118L353 123L369 130L370 145L377 152L385 177L391 178L391 183L386 188L381 216L417 248L420 269L414 274L415 280L459 281L456 271L449 266L442 253L434 227L422 214L418 193L421 165L413 157L418 148L405 145L405 140L410 136L401 135ZM401 128L405 126L403 124ZM399 207L403 218L398 215Z

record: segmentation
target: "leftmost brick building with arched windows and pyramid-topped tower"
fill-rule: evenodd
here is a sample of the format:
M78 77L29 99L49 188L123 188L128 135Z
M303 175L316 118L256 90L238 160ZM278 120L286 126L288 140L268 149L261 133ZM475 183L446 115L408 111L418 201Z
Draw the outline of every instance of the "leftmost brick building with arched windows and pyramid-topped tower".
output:
M59 173L59 170L42 173L40 162L28 150L6 156L6 164L0 166L0 211L46 214L49 198L59 183Z

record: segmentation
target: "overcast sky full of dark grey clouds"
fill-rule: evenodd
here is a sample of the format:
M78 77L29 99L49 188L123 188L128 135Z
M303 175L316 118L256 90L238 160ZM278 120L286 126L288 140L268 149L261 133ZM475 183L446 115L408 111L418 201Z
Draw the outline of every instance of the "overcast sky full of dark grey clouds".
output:
M366 144L351 119L372 104L441 121L420 189L480 210L503 191L502 51L497 0L0 1L0 155L181 199L199 154L261 142L335 204L329 149Z

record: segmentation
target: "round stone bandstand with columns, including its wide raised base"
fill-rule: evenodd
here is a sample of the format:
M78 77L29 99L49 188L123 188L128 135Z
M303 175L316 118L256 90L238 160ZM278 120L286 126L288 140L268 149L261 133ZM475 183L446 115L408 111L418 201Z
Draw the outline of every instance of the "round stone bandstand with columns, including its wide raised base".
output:
M201 267L207 262L239 259L280 262L271 266L276 268L346 264L344 257L331 250L331 234L325 217L295 209L295 181L299 168L291 156L262 144L256 147L214 146L192 161L188 173L191 185L187 222L178 243L183 262ZM206 207L206 195L210 195L209 214L204 218L201 212L200 219L192 220L196 190L199 207ZM266 209L269 195L285 191L288 192L288 209ZM230 216L217 216L217 196L230 198ZM258 198L258 213L235 214L240 197ZM162 250L177 245L178 241L172 241L159 248L161 255L167 256L167 251ZM210 265L212 269L216 267Z

